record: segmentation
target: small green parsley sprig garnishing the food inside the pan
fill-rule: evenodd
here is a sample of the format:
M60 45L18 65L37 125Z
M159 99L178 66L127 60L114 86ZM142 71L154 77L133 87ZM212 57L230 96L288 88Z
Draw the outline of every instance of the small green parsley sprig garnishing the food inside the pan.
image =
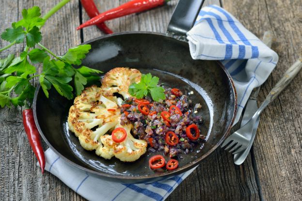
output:
M155 101L165 100L165 89L158 85L159 78L148 74L142 74L139 83L133 83L129 86L129 93L138 99L151 95Z

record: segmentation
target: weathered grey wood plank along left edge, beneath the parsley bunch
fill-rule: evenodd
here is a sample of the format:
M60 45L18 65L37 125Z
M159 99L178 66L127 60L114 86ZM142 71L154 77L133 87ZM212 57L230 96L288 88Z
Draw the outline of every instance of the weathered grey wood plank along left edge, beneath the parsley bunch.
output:
M0 0L0 31L17 21L24 8L37 5L45 14L59 0ZM43 43L56 54L63 54L67 48L79 44L79 23L77 1L71 1L53 15L42 28ZM0 40L0 46L8 43ZM24 49L19 44L1 52L0 57L15 54ZM42 175L36 166L37 160L24 132L20 108L0 109L0 200L83 200L58 178L45 172ZM44 143L45 149L47 148Z

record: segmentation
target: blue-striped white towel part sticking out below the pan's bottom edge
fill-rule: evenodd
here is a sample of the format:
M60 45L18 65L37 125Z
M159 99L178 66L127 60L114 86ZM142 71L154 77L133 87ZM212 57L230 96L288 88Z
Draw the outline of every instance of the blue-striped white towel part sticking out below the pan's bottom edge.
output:
M50 148L46 150L45 158L46 171L58 177L68 187L89 201L163 201L195 170L194 168L159 182L120 184L105 181L70 165Z

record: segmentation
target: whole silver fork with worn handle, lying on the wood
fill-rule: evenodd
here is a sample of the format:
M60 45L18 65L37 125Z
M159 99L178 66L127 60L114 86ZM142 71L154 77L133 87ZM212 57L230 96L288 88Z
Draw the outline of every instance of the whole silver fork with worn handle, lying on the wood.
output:
M253 117L239 130L235 131L231 134L225 142L221 145L221 147L229 144L225 150L231 148L229 150L232 154L237 154L242 152L250 143L252 138L252 131L254 125L257 121L258 116L262 113L262 111L269 105L269 103L274 100L281 91L292 81L292 79L298 74L298 72L302 68L302 58L299 58L288 70L285 72L284 76L279 80L279 82L272 88L269 95L262 102L259 109L253 115Z

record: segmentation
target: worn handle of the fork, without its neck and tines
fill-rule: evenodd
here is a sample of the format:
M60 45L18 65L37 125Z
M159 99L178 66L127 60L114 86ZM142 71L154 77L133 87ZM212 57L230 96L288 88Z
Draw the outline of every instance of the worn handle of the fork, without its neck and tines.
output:
M285 72L284 76L279 80L279 82L272 88L269 95L266 97L264 102L261 104L255 115L260 115L260 113L266 108L266 106L272 102L280 92L292 81L292 79L298 74L302 68L302 58L299 58L288 70ZM255 117L253 116L253 118Z

